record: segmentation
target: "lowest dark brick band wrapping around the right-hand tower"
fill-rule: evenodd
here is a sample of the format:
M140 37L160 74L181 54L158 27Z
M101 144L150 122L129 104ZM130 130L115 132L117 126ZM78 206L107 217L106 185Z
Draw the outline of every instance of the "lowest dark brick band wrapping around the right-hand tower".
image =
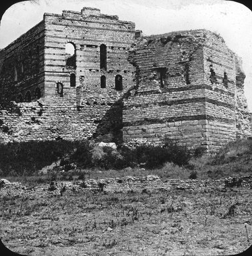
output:
M213 117L211 115L184 115L181 117L167 117L167 118L145 118L139 121L123 122L123 127L137 126L137 125L152 125L155 123L171 123L176 121L194 121L194 120L208 120L218 121L220 123L235 124L235 119Z

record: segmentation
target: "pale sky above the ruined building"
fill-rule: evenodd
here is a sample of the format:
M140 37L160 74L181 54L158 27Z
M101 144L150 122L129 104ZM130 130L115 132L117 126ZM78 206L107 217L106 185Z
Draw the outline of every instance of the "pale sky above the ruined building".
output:
M6 47L43 19L43 13L101 9L133 21L143 35L190 29L219 33L243 60L245 95L252 112L252 12L245 5L224 0L33 0L15 3L5 11L0 24L0 49Z

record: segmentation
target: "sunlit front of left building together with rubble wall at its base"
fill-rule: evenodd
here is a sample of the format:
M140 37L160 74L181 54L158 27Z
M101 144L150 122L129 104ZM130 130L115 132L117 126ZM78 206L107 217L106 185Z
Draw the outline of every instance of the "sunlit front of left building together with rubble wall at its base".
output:
M92 135L104 139L104 135L111 134L114 141L121 142L121 99L135 85L135 67L127 61L135 40L135 24L92 8L63 11L62 15L45 13L41 24L44 27L43 99L19 104L21 115L3 111L0 133L7 131L6 127L10 129L1 133L1 141L81 139ZM29 37L28 32L18 41ZM67 43L75 47L75 66L67 65ZM103 68L102 44L107 47L107 65ZM70 83L71 74L75 75L74 87ZM115 88L117 75L122 79L119 90ZM106 80L103 88L101 76ZM13 83L13 74L10 77ZM62 94L58 93L57 83L63 85Z

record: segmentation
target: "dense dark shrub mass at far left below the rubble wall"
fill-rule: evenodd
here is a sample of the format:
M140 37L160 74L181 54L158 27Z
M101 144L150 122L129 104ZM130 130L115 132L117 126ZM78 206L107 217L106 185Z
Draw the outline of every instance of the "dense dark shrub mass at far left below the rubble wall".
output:
M27 175L36 173L45 166L70 154L78 141L28 141L0 144L0 169L3 175ZM84 142L85 144L85 142Z

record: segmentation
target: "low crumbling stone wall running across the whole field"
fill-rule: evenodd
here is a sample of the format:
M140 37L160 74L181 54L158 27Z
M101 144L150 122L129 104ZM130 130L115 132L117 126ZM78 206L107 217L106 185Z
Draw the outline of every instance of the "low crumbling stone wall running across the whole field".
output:
M226 179L180 180L168 179L161 181L157 175L146 177L121 177L109 179L88 179L87 181L52 181L49 185L43 184L33 187L23 186L21 183L8 183L1 187L1 195L40 197L44 193L63 195L63 193L93 191L95 193L156 193L157 191L181 190L189 193L210 193L213 191L226 191L235 187L251 189L252 177L229 177Z

